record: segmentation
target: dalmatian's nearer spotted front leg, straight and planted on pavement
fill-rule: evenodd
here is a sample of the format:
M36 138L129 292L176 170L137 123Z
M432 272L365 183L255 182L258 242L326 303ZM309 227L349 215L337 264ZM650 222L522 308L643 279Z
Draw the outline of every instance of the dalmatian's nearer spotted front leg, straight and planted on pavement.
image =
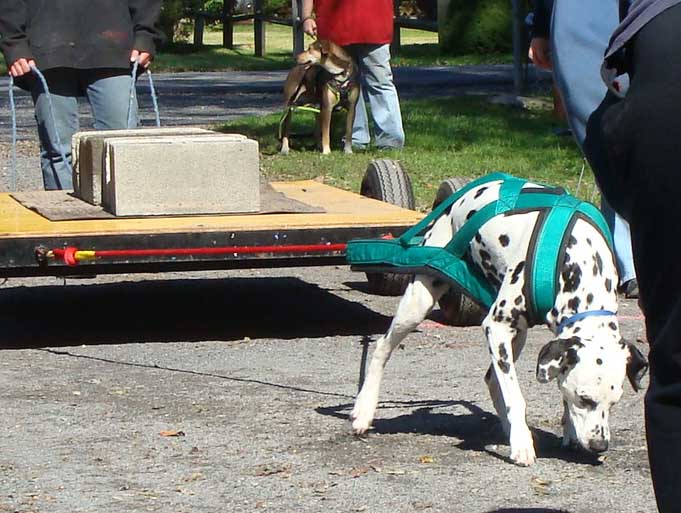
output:
M528 466L535 462L536 456L532 433L525 420L525 399L513 364L512 341L517 336L518 329L507 323L505 318L500 319L502 316L494 315L495 310L490 310L482 326L492 356L492 369L501 391L501 399L506 406L511 460L518 465Z

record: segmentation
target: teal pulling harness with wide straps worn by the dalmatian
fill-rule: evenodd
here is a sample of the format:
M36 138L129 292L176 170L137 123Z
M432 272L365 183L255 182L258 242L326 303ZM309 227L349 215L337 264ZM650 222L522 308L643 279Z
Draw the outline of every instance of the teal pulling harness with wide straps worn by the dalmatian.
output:
M426 230L458 199L480 185L500 180L503 183L499 198L475 212L445 247L423 245ZM523 189L527 183L504 173L493 173L475 180L440 203L398 239L350 241L346 250L348 263L353 270L441 276L453 282L473 301L489 308L497 290L471 260L471 240L493 217L538 211L523 272L530 320L533 323L544 322L555 302L562 255L577 219L584 219L596 227L611 248L612 236L605 219L593 204L570 196L562 188L542 186Z

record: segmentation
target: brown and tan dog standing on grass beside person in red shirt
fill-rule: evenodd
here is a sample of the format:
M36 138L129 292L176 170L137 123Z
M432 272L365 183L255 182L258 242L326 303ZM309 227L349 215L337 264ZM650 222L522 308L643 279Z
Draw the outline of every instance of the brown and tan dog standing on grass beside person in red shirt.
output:
M331 41L317 40L296 57L298 65L286 77L284 98L286 114L281 124L281 153L289 152L292 107L319 105L317 132L321 132L322 153L331 153L331 114L335 108L347 110L345 153L352 153L352 124L359 98L357 68L352 57Z

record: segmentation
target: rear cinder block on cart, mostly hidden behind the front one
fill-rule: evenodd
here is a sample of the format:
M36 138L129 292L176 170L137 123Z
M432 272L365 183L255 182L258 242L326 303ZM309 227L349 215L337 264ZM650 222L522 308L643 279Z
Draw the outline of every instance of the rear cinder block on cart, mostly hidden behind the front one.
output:
M71 139L74 194L93 205L102 203L102 165L105 140L114 137L159 137L193 134L223 135L198 127L95 130L74 134ZM245 138L245 136L240 137Z

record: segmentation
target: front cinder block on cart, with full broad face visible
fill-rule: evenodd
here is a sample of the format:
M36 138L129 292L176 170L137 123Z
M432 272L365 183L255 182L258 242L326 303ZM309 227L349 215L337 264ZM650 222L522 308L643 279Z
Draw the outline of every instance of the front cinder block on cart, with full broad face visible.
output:
M243 136L105 141L102 200L117 216L260 210L258 143Z

